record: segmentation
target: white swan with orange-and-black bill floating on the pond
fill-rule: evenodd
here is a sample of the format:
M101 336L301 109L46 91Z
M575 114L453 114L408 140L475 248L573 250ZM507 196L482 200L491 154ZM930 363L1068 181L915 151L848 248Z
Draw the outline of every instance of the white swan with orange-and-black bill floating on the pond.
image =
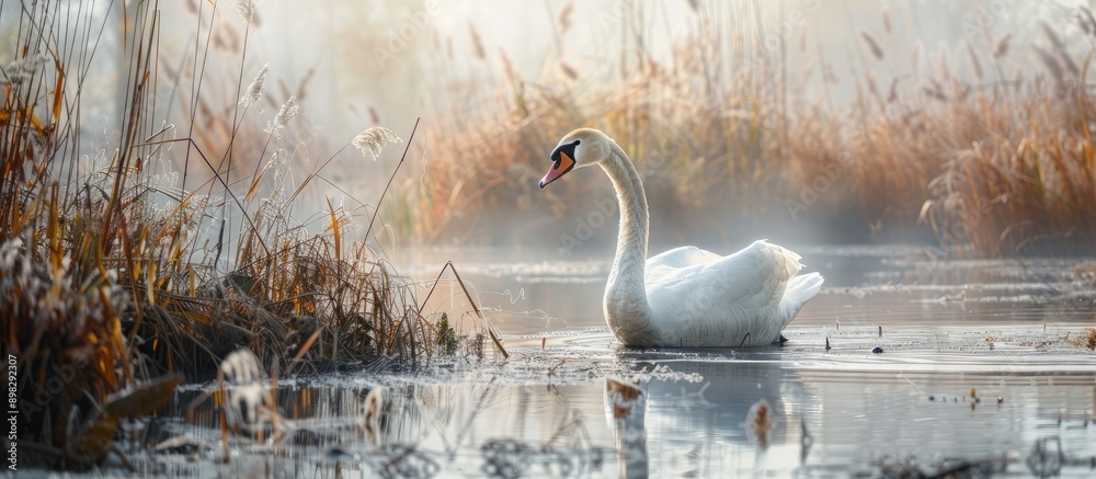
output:
M800 255L765 240L729 256L681 247L647 259L647 194L631 159L592 128L567 134L540 187L575 168L600 164L620 205L620 231L604 312L625 346L738 347L784 340L780 331L822 287L798 275ZM783 341L781 341L783 342Z

